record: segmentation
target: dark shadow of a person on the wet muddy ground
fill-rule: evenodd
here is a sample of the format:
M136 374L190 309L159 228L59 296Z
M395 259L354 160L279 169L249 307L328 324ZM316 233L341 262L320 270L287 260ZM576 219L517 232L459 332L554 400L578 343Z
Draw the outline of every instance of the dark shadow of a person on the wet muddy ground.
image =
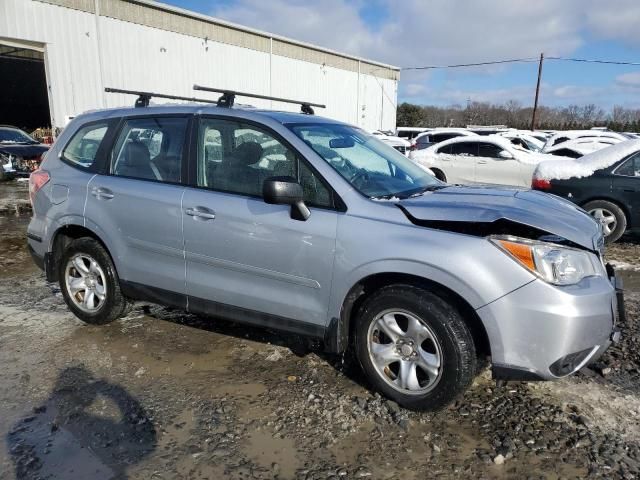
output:
M110 415L104 403L97 413L98 399ZM126 389L77 366L60 372L47 401L11 429L7 444L18 480L120 480L156 448L156 429Z

